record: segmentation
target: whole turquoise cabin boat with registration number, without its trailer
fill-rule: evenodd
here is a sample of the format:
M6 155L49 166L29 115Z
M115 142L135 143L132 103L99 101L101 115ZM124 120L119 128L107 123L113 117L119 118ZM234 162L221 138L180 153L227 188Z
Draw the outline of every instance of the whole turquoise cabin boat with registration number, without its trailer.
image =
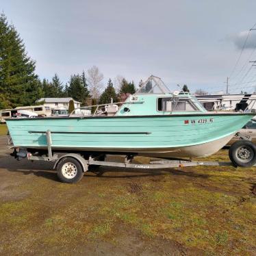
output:
M205 157L225 146L255 115L208 112L191 94L170 92L153 75L125 101L91 107L96 110L89 116L7 118L14 148L45 153L50 131L53 152Z

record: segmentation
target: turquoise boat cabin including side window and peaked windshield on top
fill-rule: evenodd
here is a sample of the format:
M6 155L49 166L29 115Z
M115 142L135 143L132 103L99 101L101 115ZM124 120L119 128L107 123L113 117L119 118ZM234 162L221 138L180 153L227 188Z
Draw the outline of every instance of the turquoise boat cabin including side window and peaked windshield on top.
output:
M151 76L130 95L116 112L116 116L146 116L196 114L207 112L203 105L187 92L171 93L159 77Z

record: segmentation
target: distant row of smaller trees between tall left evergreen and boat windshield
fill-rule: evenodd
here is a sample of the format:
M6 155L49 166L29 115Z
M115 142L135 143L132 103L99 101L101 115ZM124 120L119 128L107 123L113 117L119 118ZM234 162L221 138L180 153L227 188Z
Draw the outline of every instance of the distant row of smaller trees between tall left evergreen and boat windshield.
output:
M92 73L94 75L91 75ZM105 104L110 103L111 99L114 102L120 100L123 94L133 94L136 92L136 86L133 81L128 82L123 78L120 81L116 81L116 86L114 86L112 79L109 79L105 90L101 93L101 88L103 87L101 84L102 79L97 78L95 73L99 73L99 77L103 79L99 68L92 66L87 73L83 71L81 75L71 75L65 86L60 81L57 73L55 73L51 81L47 79L43 79L42 82L40 81L40 87L44 94L43 97L72 97L84 105L88 103L88 100L91 100L93 103Z

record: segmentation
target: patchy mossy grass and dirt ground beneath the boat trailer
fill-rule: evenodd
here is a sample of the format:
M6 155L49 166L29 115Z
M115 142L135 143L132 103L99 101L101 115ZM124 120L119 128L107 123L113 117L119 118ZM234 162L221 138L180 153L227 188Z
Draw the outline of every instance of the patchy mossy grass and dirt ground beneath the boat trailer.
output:
M256 255L255 168L105 167L71 185L17 163L0 168L2 255Z

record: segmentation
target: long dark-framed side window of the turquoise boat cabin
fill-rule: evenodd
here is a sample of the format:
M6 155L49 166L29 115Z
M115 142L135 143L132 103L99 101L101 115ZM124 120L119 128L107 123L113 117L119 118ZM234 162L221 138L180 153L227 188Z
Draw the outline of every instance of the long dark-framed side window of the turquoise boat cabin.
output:
M159 98L157 102L158 111L196 111L197 107L190 101L190 99L179 99L175 101L174 98Z

